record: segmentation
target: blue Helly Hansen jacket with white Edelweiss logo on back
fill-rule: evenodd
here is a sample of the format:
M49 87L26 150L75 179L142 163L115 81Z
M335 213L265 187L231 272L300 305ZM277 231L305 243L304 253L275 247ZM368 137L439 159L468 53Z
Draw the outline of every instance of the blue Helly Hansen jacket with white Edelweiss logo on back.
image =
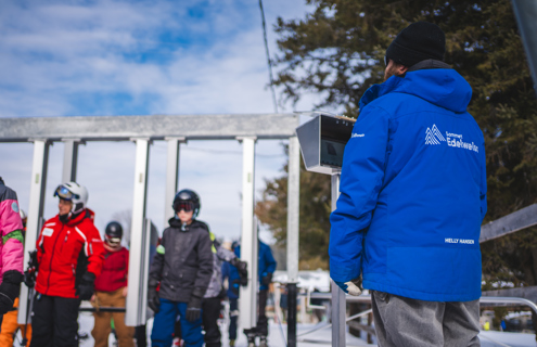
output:
M330 274L430 301L481 296L487 210L483 132L470 85L450 68L372 86L345 146Z

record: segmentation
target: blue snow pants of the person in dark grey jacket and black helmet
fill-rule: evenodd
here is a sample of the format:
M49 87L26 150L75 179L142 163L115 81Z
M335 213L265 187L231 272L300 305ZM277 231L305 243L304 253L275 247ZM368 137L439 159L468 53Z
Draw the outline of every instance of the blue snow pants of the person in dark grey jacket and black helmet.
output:
M203 346L202 318L194 322L189 322L187 320L187 303L161 298L161 310L155 314L153 331L151 332L151 345L153 347L171 346L177 316L181 317L181 333L182 339L184 339L184 347Z

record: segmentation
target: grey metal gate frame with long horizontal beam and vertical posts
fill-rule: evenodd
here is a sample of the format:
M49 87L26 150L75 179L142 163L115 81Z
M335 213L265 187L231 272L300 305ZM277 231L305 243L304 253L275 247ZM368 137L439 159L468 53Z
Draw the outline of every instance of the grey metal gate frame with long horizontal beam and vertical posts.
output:
M151 221L145 218L148 191L148 165L152 141L168 143L165 221L172 216L171 198L177 192L179 177L180 143L190 140L239 140L243 144L242 194L242 259L248 264L248 285L241 294L241 325L256 324L257 291L257 233L254 219L255 143L257 140L289 139L289 197L287 197L287 268L290 281L298 273L298 205L299 205L299 151L295 129L299 125L296 114L261 115L184 115L184 116L102 116L102 117L36 117L0 118L0 143L33 142L28 223L24 262L28 252L35 248L42 221L44 187L52 142L65 144L62 179L76 180L78 145L88 141L133 141L136 143L135 187L126 323L138 325L145 320L146 247ZM245 245L248 245L247 247ZM22 286L18 322L26 321L28 291Z

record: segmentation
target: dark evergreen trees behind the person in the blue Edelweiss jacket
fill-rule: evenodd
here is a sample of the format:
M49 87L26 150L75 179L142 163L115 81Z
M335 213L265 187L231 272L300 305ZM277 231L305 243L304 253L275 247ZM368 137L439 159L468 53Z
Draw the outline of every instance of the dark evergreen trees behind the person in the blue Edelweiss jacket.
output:
M473 88L469 112L485 134L485 221L537 202L537 101L509 0L307 2L314 11L305 18L278 18L276 25L281 54L274 83L284 99L296 102L314 92L320 99L317 107L357 117L363 92L382 82L383 56L397 33L415 21L435 23L446 33L445 61ZM330 179L303 170L301 182L301 259L325 260ZM285 239L285 191L283 175L268 182L257 206L280 242ZM537 285L536 233L527 229L483 245L485 288L501 281Z

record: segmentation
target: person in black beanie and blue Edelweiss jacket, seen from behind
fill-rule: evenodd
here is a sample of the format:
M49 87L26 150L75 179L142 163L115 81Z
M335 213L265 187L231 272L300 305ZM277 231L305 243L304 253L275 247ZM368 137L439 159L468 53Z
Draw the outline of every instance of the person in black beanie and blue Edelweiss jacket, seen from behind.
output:
M330 274L372 291L379 346L478 346L483 132L444 33L413 23L360 100L331 215ZM387 319L389 317L389 319Z

